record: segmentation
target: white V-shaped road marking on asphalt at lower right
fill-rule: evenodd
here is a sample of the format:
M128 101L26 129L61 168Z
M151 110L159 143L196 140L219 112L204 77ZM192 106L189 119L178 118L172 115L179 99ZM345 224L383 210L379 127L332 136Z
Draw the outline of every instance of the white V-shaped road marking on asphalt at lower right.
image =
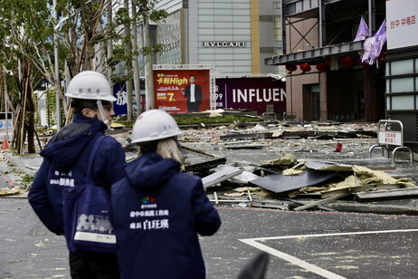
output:
M359 236L359 235L371 235L371 234L393 234L393 233L410 233L418 232L418 229L401 229L401 230L382 230L382 231L366 231L366 232L351 232L351 233L335 233L335 234L317 234L317 235L299 235L299 236L271 236L271 237L256 237L256 238L243 238L239 239L241 242L252 245L253 247L260 249L270 255L280 257L281 259L290 262L294 265L299 265L300 267L309 270L312 273L318 274L325 278L329 279L345 279L345 277L329 272L328 270L322 269L317 265L309 264L308 262L302 261L301 259L289 255L279 250L273 249L268 245L263 245L258 241L262 240L273 240L273 239L291 239L299 237L322 237L322 236Z

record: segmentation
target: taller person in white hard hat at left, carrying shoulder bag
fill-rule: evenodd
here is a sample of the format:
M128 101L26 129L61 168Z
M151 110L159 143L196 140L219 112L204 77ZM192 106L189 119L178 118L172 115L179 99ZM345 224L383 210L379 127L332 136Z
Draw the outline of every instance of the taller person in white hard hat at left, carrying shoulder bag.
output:
M120 143L104 135L114 116L109 82L100 72L84 71L71 80L66 97L74 109L72 122L49 140L41 152L43 164L29 190L28 199L43 224L56 235L64 235L62 190L83 186L87 180L90 152L100 137L90 177L107 188L122 178L126 163ZM67 239L68 242L68 239ZM119 278L115 254L75 253L70 245L71 278Z

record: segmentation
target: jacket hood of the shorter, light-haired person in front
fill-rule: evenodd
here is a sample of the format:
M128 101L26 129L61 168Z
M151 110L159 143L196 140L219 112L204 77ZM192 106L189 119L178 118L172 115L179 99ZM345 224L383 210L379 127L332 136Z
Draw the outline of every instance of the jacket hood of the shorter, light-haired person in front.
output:
M125 167L129 184L138 188L161 186L179 171L179 162L175 159L163 159L157 153L141 155Z

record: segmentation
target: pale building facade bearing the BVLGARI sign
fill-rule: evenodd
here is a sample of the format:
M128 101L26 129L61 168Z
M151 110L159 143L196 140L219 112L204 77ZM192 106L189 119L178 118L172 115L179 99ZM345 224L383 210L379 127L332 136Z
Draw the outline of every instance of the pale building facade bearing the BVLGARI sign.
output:
M157 64L214 65L220 76L278 72L264 63L281 53L280 1L161 0L169 16L157 23L164 50Z

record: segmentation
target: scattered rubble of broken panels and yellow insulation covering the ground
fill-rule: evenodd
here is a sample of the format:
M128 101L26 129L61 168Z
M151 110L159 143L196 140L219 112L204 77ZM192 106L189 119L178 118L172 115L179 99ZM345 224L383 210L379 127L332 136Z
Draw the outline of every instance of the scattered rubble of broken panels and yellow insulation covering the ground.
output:
M207 112L210 117L233 113ZM375 162L379 159L366 160L368 148L376 142L375 123L276 122L251 117L251 123L202 122L182 127L185 134L179 142L185 155L185 171L202 178L208 197L216 205L333 211L330 201L337 199L359 204L418 197L413 178L408 174L394 176L401 173L396 169L399 165L390 165L383 158L385 165L377 169ZM125 148L127 158L136 158L137 150L128 149L130 133L128 129L108 132ZM344 148L336 152L338 143ZM16 156L10 157L12 160ZM24 162L21 165L31 176L42 161L16 160ZM14 193L12 188L2 191L2 195Z

